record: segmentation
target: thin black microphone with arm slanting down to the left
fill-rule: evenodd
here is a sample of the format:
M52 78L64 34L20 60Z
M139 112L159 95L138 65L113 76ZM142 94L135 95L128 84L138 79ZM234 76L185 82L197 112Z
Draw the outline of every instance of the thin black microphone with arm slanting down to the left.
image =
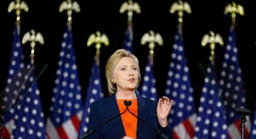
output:
M124 105L126 106L125 111L123 111L122 113L116 115L115 117L109 119L108 121L102 123L100 126L98 126L95 129L90 130L88 133L84 134L83 136L79 137L78 139L86 139L88 136L90 136L91 134L93 134L95 131L97 131L99 128L101 128L103 125L109 123L110 121L116 119L118 116L121 116L124 112L126 112L128 110L128 107L131 106L132 102L127 102L126 100L124 101Z

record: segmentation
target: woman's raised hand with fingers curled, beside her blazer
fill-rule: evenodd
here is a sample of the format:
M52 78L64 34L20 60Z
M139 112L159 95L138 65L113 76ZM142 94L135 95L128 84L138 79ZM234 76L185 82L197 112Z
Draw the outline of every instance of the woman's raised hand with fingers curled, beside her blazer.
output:
M168 97L162 97L157 104L157 120L162 127L167 126L167 117L170 113L172 100Z

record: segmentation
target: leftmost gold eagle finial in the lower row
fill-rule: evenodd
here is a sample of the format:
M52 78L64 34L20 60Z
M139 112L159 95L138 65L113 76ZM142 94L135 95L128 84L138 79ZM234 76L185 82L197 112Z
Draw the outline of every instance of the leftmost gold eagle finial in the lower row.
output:
M25 33L25 35L22 38L22 44L25 44L26 42L30 41L30 47L31 47L31 64L34 64L34 57L35 57L35 46L36 42L39 42L41 45L43 45L44 40L43 36L40 32L35 32L35 30L30 30L30 32Z

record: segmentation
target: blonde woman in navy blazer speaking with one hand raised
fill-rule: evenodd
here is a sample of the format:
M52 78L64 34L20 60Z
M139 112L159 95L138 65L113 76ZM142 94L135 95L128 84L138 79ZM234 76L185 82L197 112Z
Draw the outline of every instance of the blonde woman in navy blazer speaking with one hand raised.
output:
M156 102L135 92L141 75L139 61L133 54L116 50L107 61L105 73L110 97L91 104L87 131L97 130L88 138L157 139L160 137L156 130L172 138L167 122L172 100L162 97Z

